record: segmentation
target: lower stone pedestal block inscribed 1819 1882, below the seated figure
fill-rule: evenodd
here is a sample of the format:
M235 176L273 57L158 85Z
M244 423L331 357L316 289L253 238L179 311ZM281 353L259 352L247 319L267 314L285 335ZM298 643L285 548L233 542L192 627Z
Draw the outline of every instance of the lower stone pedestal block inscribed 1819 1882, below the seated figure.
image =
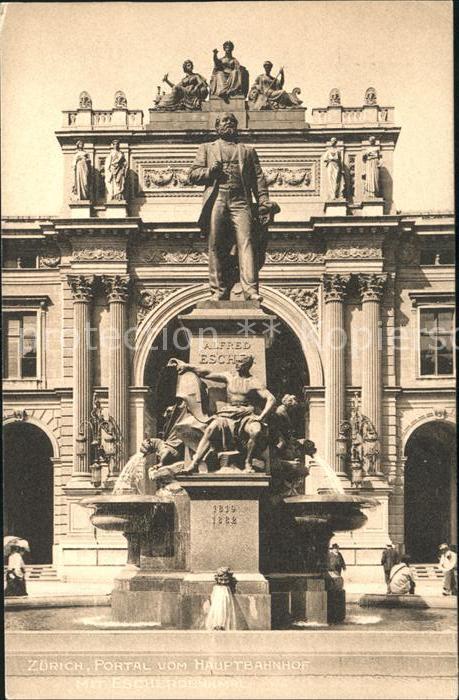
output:
M202 629L214 573L229 566L236 578L238 629L270 629L269 586L259 571L259 502L266 474L197 474L179 478L190 497L188 566L182 582L182 627Z

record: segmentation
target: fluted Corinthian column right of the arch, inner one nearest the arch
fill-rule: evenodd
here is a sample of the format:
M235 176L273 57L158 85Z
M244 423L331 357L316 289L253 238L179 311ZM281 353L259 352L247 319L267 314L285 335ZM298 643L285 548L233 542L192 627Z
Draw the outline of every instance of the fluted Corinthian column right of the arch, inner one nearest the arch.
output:
M345 418L346 375L344 331L344 297L349 275L324 275L325 350L325 458L335 472L345 475L342 461L336 455L336 438Z

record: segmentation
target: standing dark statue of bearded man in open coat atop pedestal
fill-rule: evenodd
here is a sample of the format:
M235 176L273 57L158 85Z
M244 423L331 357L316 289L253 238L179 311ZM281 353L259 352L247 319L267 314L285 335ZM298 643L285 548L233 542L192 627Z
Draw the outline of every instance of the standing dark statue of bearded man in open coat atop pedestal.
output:
M219 138L199 147L188 176L192 184L206 186L199 224L209 237L211 298L229 299L240 282L244 299L261 301L258 272L267 226L280 209L269 201L256 150L238 141L234 114L218 117L215 129Z

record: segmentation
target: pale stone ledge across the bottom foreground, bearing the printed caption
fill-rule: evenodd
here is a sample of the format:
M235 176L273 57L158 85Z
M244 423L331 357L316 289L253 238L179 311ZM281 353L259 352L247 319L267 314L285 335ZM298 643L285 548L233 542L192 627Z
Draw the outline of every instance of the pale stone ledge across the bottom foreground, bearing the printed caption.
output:
M37 698L45 690L60 698L83 692L93 698L386 700L457 694L456 635L450 632L70 631L6 637L9 697L24 696L21 682L28 683L27 697ZM50 673L47 660L59 662L61 655L78 665ZM35 657L42 671L32 672ZM59 695L51 692L57 681ZM76 689L80 695L71 694Z

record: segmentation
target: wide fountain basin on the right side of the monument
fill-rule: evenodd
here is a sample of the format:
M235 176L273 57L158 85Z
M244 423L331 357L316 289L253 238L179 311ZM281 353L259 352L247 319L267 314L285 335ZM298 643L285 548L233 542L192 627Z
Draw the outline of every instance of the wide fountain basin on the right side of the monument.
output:
M378 505L374 498L344 493L288 496L284 503L298 525L322 526L332 533L361 528L367 521L362 509Z

